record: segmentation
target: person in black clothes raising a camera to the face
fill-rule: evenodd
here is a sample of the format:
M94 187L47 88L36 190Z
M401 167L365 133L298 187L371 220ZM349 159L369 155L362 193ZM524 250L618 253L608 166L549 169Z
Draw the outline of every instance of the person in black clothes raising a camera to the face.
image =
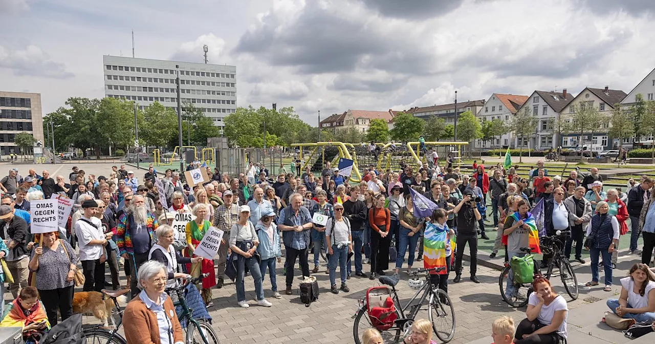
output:
M457 252L455 254L455 279L453 282L459 283L462 280L462 256L464 256L464 246L468 243L471 256L471 280L479 283L476 277L477 271L477 221L482 216L477 210L477 202L480 197L476 197L470 189L464 190L462 201L455 206L453 213L457 214Z

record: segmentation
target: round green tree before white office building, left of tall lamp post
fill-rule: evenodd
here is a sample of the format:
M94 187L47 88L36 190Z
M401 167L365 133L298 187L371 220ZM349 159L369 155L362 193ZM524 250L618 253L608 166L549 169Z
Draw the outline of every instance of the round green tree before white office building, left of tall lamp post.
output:
M174 109L166 108L159 102L147 106L143 110L143 123L139 125L139 142L155 147L168 145L174 136L178 136L178 115Z

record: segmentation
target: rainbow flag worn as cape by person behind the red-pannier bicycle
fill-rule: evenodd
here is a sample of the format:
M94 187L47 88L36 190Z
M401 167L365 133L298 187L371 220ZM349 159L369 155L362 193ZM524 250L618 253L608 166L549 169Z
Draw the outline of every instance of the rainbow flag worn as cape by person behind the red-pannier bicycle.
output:
M434 223L428 222L425 226L425 234L423 237L423 267L432 269L434 267L447 267L446 259L451 259L451 266L453 258L455 257L455 235L452 237L448 234L450 229L448 225L443 224L443 228L439 228ZM446 256L446 240L450 241L451 255ZM434 271L430 273L435 274ZM440 271L439 275L445 275L448 271Z

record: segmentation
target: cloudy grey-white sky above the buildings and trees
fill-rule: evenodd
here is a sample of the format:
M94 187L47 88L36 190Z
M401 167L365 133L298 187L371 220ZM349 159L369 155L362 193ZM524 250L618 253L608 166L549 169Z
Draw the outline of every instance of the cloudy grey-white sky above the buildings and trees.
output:
M238 105L316 124L493 92L629 92L655 67L653 0L0 0L0 90L48 113L102 97L105 54L237 68Z

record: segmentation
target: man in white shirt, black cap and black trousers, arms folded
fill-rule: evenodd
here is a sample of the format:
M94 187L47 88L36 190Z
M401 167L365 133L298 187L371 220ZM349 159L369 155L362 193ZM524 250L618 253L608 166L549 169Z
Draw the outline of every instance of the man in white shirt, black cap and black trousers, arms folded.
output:
M98 203L89 199L82 203L83 216L75 223L75 235L80 246L80 261L84 272L84 292L102 292L105 288L105 254L107 239L102 222L96 218Z

